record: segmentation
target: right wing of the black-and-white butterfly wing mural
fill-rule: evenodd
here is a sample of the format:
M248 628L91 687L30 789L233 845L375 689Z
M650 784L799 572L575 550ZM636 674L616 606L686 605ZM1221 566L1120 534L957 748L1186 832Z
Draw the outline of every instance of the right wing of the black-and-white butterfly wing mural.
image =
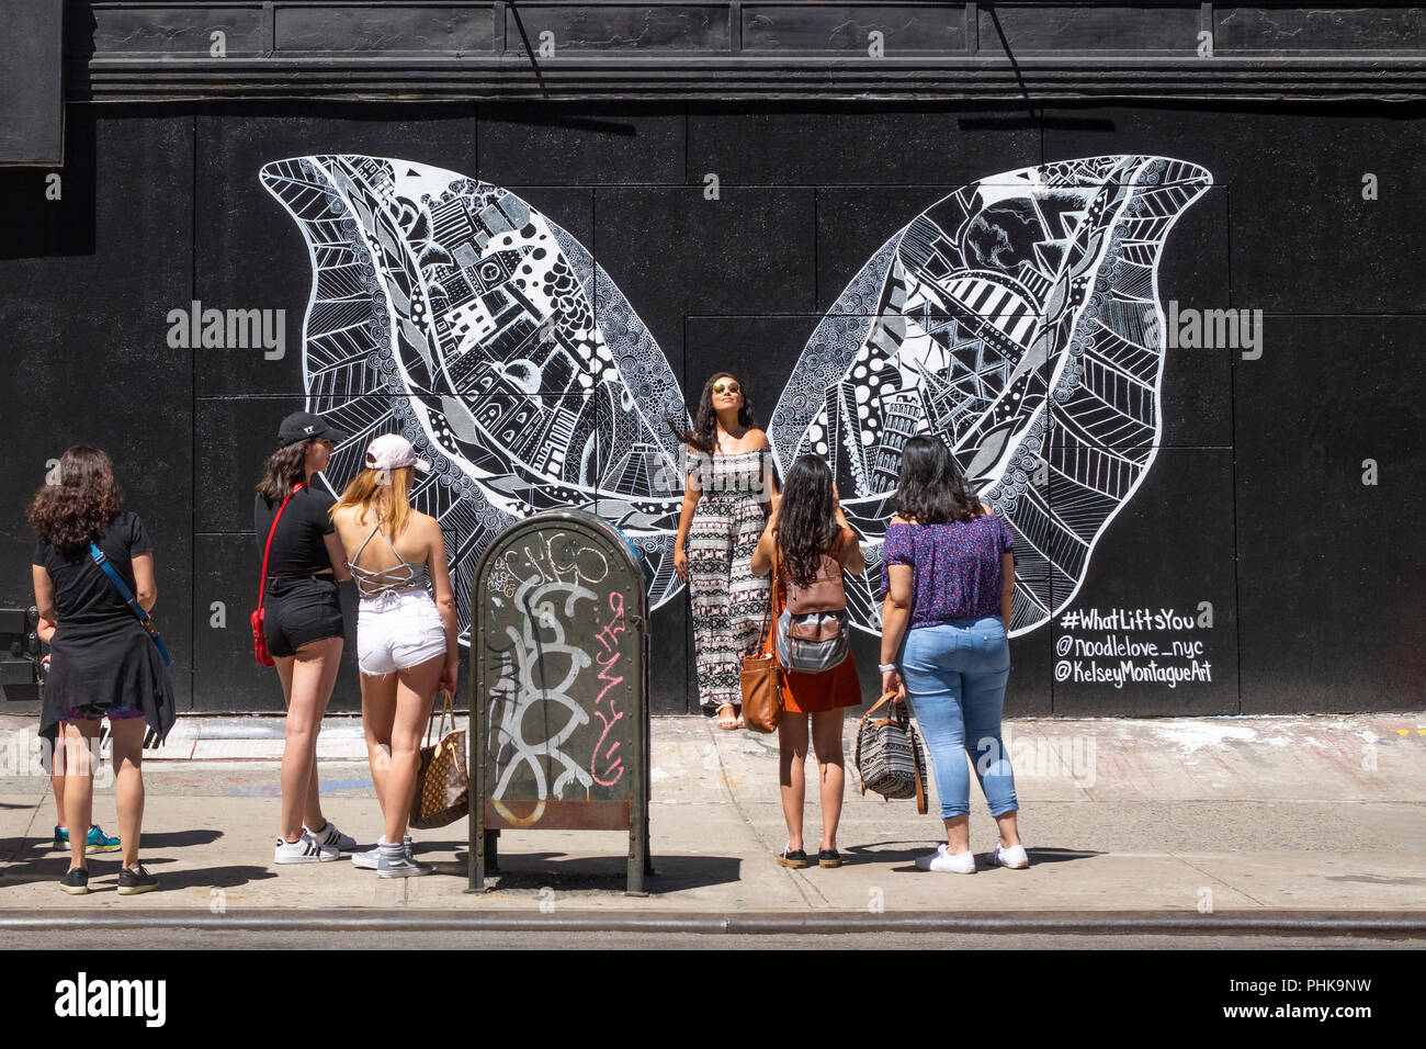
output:
M1211 184L1148 156L1008 171L927 208L853 277L769 434L784 471L807 452L833 465L867 551L847 577L858 627L880 629L887 501L917 434L950 445L1015 535L1011 634L1071 601L1158 452L1159 253Z

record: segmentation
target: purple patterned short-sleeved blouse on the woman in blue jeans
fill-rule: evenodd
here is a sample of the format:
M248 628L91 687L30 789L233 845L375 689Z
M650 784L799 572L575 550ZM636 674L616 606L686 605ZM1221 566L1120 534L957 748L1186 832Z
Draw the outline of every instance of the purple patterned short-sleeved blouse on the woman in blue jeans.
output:
M888 524L881 591L890 585L887 565L911 567L911 629L1000 615L1001 557L1012 545L998 514L938 525Z

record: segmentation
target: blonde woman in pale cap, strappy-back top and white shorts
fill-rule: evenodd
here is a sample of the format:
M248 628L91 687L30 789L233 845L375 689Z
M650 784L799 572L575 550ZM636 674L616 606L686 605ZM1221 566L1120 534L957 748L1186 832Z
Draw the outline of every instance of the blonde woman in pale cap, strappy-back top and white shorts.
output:
M365 468L332 508L347 565L356 579L356 662L371 779L381 805L382 838L352 863L382 878L428 875L406 824L421 768L421 732L436 691L455 691L459 639L455 597L441 524L411 507L416 458L401 434L378 437ZM431 588L435 588L435 598Z

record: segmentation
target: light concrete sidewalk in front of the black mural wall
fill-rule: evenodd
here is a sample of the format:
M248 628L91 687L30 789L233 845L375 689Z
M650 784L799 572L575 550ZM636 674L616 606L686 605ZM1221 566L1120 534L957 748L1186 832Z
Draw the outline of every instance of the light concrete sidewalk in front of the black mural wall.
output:
M935 802L863 796L851 771L837 836L846 865L789 871L777 739L700 716L653 719L650 895L623 895L627 835L506 831L495 889L466 893L466 824L418 833L438 873L381 881L349 862L274 866L281 722L187 718L145 758L143 861L161 878L143 899L113 892L117 853L91 856L91 893L64 896L50 849L48 781L0 769L0 923L26 913L379 918L405 909L491 919L763 916L991 921L1032 928L1184 919L1205 928L1303 918L1426 929L1426 715L1162 721L1011 721L1021 835L1031 869L991 868L995 825L973 786L974 876L913 859L940 841ZM0 718L0 748L33 722ZM359 722L329 718L318 752L324 809L364 843L379 832ZM0 749L3 754L3 749ZM814 765L809 762L809 772ZM820 818L809 791L807 841ZM113 788L96 818L117 831ZM722 918L720 918L722 916ZM878 919L880 916L880 919ZM776 923L776 922L774 922Z

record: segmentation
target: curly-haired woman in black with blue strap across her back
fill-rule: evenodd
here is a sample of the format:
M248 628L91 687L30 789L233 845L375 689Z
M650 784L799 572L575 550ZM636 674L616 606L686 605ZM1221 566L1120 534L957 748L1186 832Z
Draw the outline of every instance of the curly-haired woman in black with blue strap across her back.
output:
M60 888L88 892L84 853L94 808L94 762L100 722L108 718L113 739L114 794L123 866L118 895L148 892L158 879L138 863L144 819L144 735L161 741L174 722L174 694L163 655L117 585L100 567L103 558L148 612L158 599L154 554L137 514L123 508L114 467L98 448L77 444L60 458L58 480L30 504L30 527L40 541L31 558L34 604L40 619L54 624L50 669L44 679L40 734L51 744L63 734L64 818L80 831L67 836L70 868ZM100 558L91 552L97 547ZM103 835L100 835L103 838Z

